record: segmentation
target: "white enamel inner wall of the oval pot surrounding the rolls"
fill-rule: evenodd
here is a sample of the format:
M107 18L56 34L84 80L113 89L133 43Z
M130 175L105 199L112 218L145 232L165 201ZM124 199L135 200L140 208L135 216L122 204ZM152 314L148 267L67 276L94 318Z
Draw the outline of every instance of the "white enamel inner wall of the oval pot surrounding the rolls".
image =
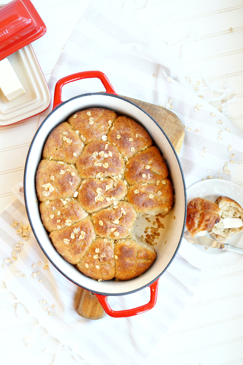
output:
M141 276L127 281L101 281L83 275L74 265L65 261L55 250L48 232L42 225L39 212L39 201L35 189L35 175L42 150L50 132L58 124L65 122L70 115L78 110L91 107L102 107L126 115L140 123L150 134L154 144L164 155L174 187L175 201L170 213L166 216L165 229L155 250L157 258L154 264ZM130 101L108 93L89 93L73 97L58 105L43 121L31 143L24 171L24 195L31 228L41 249L51 263L78 286L102 295L125 295L143 289L153 283L163 274L175 257L180 246L186 219L186 189L184 177L177 154L168 137L155 120L144 110ZM37 199L37 203L36 203ZM175 219L174 219L175 217ZM165 241L166 244L165 244Z

